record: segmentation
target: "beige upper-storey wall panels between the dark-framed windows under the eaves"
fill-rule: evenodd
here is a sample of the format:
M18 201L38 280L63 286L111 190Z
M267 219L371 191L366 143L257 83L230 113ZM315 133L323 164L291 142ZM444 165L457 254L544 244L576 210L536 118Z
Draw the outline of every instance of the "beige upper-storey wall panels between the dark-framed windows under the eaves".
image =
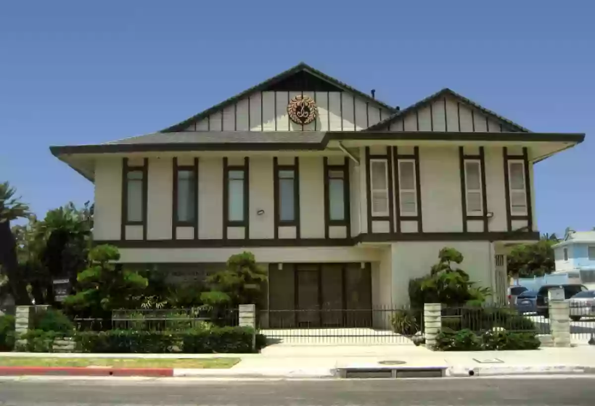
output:
M381 149L374 149L374 151ZM386 149L383 149L384 152ZM511 148L511 150L513 150ZM359 156L365 156L361 147ZM399 153L412 152L412 147L399 147ZM465 147L465 153L478 153L478 146ZM484 147L486 171L487 210L493 216L488 219L488 231L506 231L505 179L503 171L502 147ZM300 238L324 238L324 160L322 155L302 153L299 157L299 204ZM182 159L183 157L180 157ZM342 164L345 156L330 155L328 162ZM281 155L280 164L295 162L295 156ZM186 161L184 161L186 162ZM192 159L189 161L192 162ZM221 240L223 238L223 157L199 156L198 210L199 239ZM243 164L240 155L230 156L230 164ZM461 173L458 146L419 146L419 179L421 196L421 232L462 232ZM273 155L255 154L249 159L249 238L274 238L274 174ZM351 235L368 232L367 222L367 171L365 159L359 165L349 160L350 170L350 224ZM95 240L119 240L121 221L122 158L99 158L95 169ZM533 166L530 165L531 186L533 189ZM172 200L173 200L172 158L150 157L148 159L148 240L171 239ZM397 194L398 191L394 190ZM532 193L531 201L535 202ZM397 199L393 199L397 204ZM259 210L264 214L258 215ZM395 212L398 212L396 207ZM533 209L535 219L536 210ZM401 222L402 232L418 232L417 222ZM512 228L527 225L527 221L512 221ZM469 232L483 232L482 221L468 221ZM534 229L536 229L534 222ZM340 232L339 232L340 231ZM374 221L372 230L377 233L389 231L389 222ZM128 235L130 234L130 235ZM127 239L137 240L133 233ZM142 235L142 230L140 231ZM240 235L241 234L241 235ZM229 238L245 238L242 233L228 233ZM294 233L295 234L295 233ZM293 234L292 234L293 235ZM329 237L343 238L343 229L332 229ZM289 237L282 232L280 237ZM141 237L142 238L142 237Z

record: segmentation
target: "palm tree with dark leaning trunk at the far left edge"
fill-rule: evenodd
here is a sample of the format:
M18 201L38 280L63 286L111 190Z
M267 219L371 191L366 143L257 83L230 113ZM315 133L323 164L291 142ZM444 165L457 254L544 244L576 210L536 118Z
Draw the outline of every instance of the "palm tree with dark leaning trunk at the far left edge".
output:
M31 304L27 287L18 272L17 242L10 229L11 220L29 216L29 206L15 197L16 190L8 182L0 183L0 265L8 276L15 304Z

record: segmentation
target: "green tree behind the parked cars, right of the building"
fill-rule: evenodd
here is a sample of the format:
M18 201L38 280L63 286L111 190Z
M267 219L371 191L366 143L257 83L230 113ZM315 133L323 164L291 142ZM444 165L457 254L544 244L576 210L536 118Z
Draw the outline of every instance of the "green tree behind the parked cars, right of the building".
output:
M508 274L518 278L533 278L555 270L552 246L558 239L544 236L534 244L519 244L508 254ZM555 235L554 235L555 237Z

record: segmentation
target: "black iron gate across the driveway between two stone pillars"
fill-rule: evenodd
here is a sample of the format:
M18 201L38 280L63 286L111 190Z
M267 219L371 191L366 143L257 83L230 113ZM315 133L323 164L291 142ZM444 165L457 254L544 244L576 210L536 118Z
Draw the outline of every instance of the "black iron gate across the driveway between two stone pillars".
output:
M423 310L261 310L258 328L271 340L315 343L411 343L423 335Z

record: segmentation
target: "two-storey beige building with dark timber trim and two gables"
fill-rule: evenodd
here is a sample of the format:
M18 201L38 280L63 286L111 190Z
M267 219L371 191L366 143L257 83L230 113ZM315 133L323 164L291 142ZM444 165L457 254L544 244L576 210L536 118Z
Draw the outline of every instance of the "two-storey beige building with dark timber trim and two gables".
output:
M533 165L583 138L449 89L393 108L299 64L158 133L51 151L95 184L94 241L123 263L202 275L249 250L270 309L371 309L408 303L445 246L503 298L507 247L539 238Z

